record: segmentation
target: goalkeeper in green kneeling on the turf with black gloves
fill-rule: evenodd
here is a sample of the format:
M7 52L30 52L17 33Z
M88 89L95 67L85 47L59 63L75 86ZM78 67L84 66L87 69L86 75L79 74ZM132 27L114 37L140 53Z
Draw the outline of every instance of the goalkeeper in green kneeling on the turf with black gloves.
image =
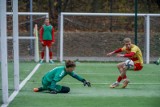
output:
M51 94L68 93L70 91L69 87L57 85L57 82L61 81L68 74L73 78L81 81L84 86L87 85L90 87L90 82L86 81L84 78L80 77L74 72L75 67L76 64L73 61L66 61L65 66L56 67L45 74L42 78L42 87L34 88L33 91L41 92L44 90L49 90Z

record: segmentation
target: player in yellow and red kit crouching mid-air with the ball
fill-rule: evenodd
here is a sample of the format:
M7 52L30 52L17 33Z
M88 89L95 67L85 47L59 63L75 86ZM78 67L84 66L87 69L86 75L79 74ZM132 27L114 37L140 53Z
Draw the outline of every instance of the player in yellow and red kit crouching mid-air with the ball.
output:
M130 38L125 38L124 46L113 52L108 53L107 56L111 56L114 53L119 53L119 52L125 52L125 54L117 54L117 57L127 57L134 62L134 71L139 71L143 68L142 52L138 46L131 43ZM128 68L125 62L119 63L117 67L120 72L120 75L117 78L117 81L111 84L110 87L111 88L118 87L121 80L124 80L122 88L125 88L129 83L129 80L127 79L127 76L126 76L126 72Z

